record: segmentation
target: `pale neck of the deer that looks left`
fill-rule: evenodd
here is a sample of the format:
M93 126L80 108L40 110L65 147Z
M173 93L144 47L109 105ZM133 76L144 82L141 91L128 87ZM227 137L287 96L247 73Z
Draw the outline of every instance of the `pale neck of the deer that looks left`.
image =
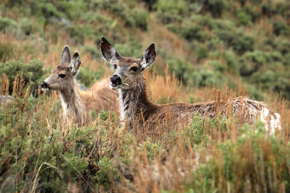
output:
M60 91L60 98L62 101L63 112L68 116L68 118L74 118L77 119L77 121L85 119L83 117L85 115L85 105L79 94L76 80L71 84L66 85L66 88Z

